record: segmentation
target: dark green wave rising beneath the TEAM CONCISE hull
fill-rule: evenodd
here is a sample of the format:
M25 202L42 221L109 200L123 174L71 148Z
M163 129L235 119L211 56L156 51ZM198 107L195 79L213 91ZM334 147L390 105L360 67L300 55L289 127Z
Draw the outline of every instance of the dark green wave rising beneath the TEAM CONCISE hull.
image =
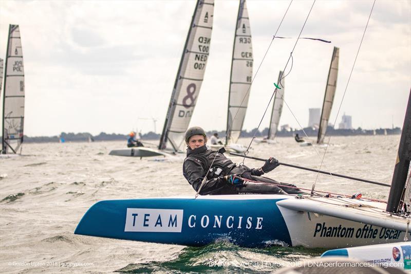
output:
M230 243L227 239L221 239L203 247L185 247L171 258L162 258L161 261L130 263L116 272L269 273L289 265L290 262L320 256L325 251L322 248L287 247L279 242L270 244L275 245L266 248L244 248Z

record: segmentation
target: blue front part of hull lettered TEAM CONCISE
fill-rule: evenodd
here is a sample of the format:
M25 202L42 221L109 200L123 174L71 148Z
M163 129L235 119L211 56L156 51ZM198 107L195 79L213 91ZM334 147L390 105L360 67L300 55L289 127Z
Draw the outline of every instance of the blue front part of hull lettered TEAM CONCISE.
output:
M240 246L291 245L279 199L152 198L105 200L92 206L76 234L201 246L228 239Z

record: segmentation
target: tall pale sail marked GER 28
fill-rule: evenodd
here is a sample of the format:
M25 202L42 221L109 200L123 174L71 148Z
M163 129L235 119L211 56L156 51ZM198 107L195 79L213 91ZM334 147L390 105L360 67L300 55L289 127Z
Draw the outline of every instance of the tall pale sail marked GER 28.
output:
M253 76L253 47L246 0L240 0L235 27L227 114L226 144L236 142L246 117Z

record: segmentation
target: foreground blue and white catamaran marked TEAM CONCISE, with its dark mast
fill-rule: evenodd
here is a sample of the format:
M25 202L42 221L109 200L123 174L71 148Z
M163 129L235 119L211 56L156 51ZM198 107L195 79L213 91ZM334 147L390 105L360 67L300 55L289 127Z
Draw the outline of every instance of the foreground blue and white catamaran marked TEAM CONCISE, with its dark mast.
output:
M407 241L411 90L388 204L361 197L214 195L105 200L92 206L74 233L201 246L228 239L240 246L286 244L343 248ZM405 239L405 240L404 240Z

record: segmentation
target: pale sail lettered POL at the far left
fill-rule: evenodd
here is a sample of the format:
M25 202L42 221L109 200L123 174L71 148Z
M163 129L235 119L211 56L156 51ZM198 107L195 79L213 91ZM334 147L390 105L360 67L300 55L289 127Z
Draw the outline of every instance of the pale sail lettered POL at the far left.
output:
M10 25L3 97L3 150L17 153L23 142L24 66L18 25Z

